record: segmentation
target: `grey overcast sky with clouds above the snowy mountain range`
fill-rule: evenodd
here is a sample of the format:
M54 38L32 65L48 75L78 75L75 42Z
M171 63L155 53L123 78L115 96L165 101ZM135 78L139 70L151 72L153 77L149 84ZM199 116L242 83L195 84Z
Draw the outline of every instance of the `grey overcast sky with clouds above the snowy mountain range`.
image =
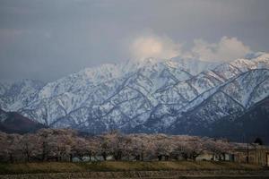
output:
M149 55L269 52L268 8L267 0L0 0L0 80L53 81Z

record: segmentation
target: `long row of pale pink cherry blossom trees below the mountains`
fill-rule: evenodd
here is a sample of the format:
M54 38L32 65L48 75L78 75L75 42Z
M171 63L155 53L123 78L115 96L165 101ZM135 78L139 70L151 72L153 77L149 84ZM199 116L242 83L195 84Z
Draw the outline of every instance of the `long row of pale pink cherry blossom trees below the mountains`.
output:
M195 160L203 152L221 158L232 150L230 142L187 135L122 134L108 132L80 136L70 129L41 129L37 133L0 132L0 161L72 161L100 156L107 160Z

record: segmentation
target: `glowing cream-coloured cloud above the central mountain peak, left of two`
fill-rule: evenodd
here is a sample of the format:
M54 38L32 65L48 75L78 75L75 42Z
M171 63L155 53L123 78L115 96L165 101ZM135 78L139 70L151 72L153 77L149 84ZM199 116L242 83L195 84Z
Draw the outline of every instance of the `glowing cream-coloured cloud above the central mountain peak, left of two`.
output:
M145 58L168 59L180 55L181 45L166 36L145 35L134 38L130 54L134 59Z

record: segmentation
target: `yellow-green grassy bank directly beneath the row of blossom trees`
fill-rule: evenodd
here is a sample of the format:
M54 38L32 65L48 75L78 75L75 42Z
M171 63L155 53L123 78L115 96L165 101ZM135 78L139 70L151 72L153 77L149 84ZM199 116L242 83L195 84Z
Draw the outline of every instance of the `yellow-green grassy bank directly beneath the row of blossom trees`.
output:
M118 172L118 171L178 171L178 170L264 170L264 166L213 161L154 161L126 162L103 161L95 163L20 163L0 164L0 175L7 174L48 174L77 172Z

